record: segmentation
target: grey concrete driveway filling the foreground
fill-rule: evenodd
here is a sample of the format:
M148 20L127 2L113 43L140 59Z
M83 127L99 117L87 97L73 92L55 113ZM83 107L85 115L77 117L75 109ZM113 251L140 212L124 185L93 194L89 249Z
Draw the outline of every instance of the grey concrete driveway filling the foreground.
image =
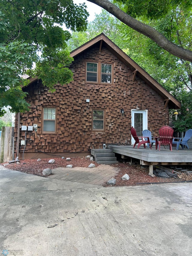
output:
M101 187L0 167L0 255L192 255L192 183Z

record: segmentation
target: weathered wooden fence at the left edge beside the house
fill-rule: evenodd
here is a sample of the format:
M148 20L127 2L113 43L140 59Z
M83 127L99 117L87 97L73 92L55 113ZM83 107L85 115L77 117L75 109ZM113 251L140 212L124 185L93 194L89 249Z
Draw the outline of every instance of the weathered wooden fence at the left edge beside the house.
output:
M14 127L2 127L0 163L6 163L13 160L14 153Z

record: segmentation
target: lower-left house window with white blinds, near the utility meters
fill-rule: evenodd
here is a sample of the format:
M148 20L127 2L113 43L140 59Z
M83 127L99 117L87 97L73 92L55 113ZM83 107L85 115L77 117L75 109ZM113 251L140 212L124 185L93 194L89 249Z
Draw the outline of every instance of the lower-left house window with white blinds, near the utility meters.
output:
M44 132L55 132L55 115L56 108L44 107L43 108L43 131Z

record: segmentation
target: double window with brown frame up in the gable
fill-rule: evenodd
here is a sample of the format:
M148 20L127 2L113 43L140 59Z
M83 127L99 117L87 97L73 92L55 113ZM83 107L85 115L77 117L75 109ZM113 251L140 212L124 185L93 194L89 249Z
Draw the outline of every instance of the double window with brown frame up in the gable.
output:
M112 65L101 62L86 63L86 81L96 83L112 83Z

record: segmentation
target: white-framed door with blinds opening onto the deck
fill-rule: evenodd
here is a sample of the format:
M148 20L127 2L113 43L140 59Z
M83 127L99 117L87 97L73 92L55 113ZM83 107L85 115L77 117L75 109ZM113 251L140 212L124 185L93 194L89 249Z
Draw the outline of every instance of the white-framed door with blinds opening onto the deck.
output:
M143 136L142 131L147 129L147 110L131 110L131 126L137 132L137 136ZM134 145L135 140L131 136L131 145Z

